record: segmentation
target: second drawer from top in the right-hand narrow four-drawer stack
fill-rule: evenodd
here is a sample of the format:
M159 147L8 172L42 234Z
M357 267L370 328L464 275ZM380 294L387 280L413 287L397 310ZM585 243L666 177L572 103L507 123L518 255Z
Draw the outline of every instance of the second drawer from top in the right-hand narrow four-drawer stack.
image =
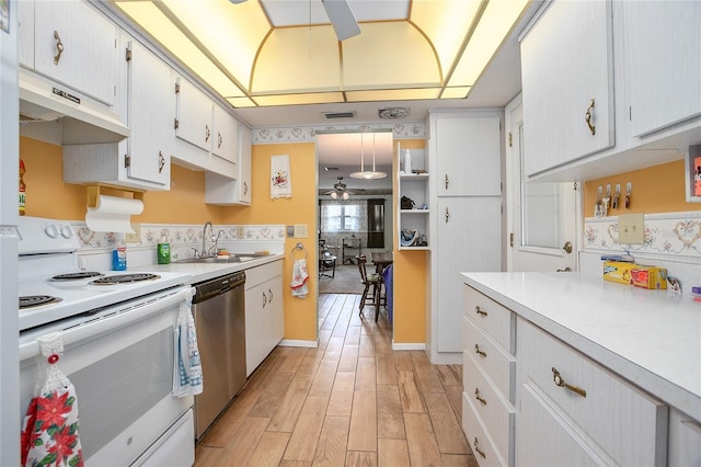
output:
M516 387L516 358L468 318L462 318L462 343L466 355L469 354L472 357L474 364L490 376L499 392L513 403ZM467 365L467 362L464 364Z

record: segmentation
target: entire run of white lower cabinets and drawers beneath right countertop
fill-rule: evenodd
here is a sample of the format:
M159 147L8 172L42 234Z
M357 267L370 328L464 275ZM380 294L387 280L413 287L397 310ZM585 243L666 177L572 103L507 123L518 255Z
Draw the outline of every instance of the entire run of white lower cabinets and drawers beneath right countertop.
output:
M462 430L480 466L701 465L698 421L487 295L463 285Z

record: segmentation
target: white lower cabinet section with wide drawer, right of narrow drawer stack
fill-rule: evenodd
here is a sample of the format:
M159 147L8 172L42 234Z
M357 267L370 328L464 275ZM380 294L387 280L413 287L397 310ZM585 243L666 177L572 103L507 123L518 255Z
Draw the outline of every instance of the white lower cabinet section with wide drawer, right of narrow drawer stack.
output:
M517 465L667 463L668 407L518 318Z

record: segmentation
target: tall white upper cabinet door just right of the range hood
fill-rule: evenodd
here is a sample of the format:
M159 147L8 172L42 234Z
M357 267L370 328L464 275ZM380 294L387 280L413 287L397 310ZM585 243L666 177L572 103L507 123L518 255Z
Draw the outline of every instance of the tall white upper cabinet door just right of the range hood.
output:
M170 189L171 69L136 41L129 43L128 175ZM158 109L158 112L154 110Z

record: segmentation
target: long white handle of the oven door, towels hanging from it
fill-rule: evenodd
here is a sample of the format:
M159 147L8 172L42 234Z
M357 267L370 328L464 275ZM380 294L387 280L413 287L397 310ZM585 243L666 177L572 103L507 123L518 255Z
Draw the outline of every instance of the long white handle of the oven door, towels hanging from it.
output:
M157 315L173 305L186 301L188 299L188 295L189 298L195 295L195 289L193 287L181 288L171 295L117 308L108 315L102 315L79 324L54 332L58 333L58 337L67 348L76 342L93 339L97 335L148 318L149 316ZM173 322L173 326L176 326L176 322ZM41 355L41 351L39 343L36 339L20 345L20 362L38 355Z

